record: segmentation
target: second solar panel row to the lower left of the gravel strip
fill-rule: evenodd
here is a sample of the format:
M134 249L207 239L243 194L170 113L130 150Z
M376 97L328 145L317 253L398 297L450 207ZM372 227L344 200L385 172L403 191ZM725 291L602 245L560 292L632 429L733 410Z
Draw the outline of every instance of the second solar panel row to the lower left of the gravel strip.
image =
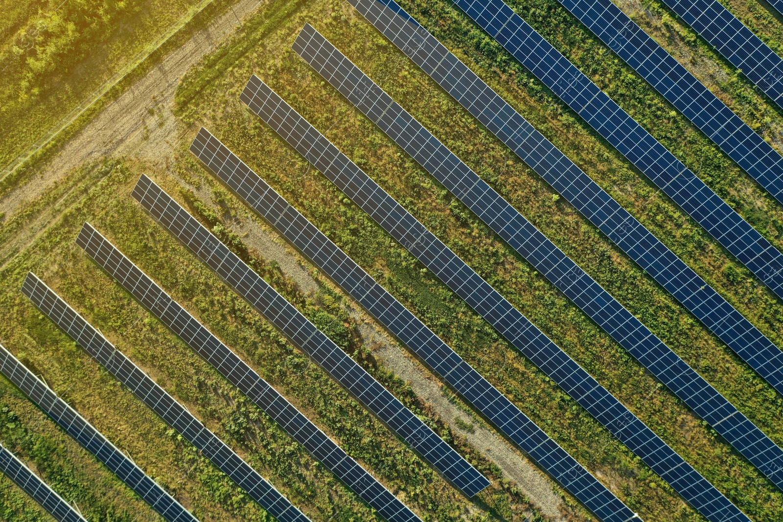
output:
M153 185L149 179L143 179L149 184L148 188L157 189L157 185ZM165 196L165 193L161 191L161 195ZM82 227L77 243L125 290L279 423L290 437L304 446L361 499L381 513L382 517L389 522L421 522L413 511L359 466L193 315L171 299L150 276L92 229L91 225Z

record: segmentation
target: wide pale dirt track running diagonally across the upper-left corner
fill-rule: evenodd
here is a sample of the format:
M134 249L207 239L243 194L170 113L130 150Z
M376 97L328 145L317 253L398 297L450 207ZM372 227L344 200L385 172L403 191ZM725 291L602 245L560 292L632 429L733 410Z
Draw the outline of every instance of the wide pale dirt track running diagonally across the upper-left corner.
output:
M162 167L168 164L177 135L171 108L179 79L261 4L259 0L239 0L228 13L164 56L161 63L70 139L40 175L0 200L0 212L12 216L21 203L41 196L85 161L126 155Z

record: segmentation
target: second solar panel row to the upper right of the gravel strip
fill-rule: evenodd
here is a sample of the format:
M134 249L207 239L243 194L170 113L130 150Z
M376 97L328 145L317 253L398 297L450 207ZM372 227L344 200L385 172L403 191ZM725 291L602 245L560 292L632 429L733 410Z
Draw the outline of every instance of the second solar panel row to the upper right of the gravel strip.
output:
M749 520L258 77L240 99L688 502L715 522Z

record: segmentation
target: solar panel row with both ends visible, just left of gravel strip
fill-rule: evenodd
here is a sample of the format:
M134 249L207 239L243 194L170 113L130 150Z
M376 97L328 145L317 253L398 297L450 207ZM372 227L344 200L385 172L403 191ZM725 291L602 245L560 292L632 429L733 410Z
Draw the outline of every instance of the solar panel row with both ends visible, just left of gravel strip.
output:
M367 409L408 441L435 468L468 496L486 488L489 481L453 448L413 415L357 362L309 322L293 304L236 257L228 247L143 176L133 196L172 234L233 286L254 308L343 384Z

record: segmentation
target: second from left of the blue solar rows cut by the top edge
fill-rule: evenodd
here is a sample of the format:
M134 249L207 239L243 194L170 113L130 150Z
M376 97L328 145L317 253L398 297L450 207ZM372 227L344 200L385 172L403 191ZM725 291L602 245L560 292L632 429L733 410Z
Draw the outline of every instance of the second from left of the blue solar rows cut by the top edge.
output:
M385 0L392 2L392 0ZM691 215L723 247L783 297L783 254L611 98L533 31L502 0L456 0L508 52L560 96Z

